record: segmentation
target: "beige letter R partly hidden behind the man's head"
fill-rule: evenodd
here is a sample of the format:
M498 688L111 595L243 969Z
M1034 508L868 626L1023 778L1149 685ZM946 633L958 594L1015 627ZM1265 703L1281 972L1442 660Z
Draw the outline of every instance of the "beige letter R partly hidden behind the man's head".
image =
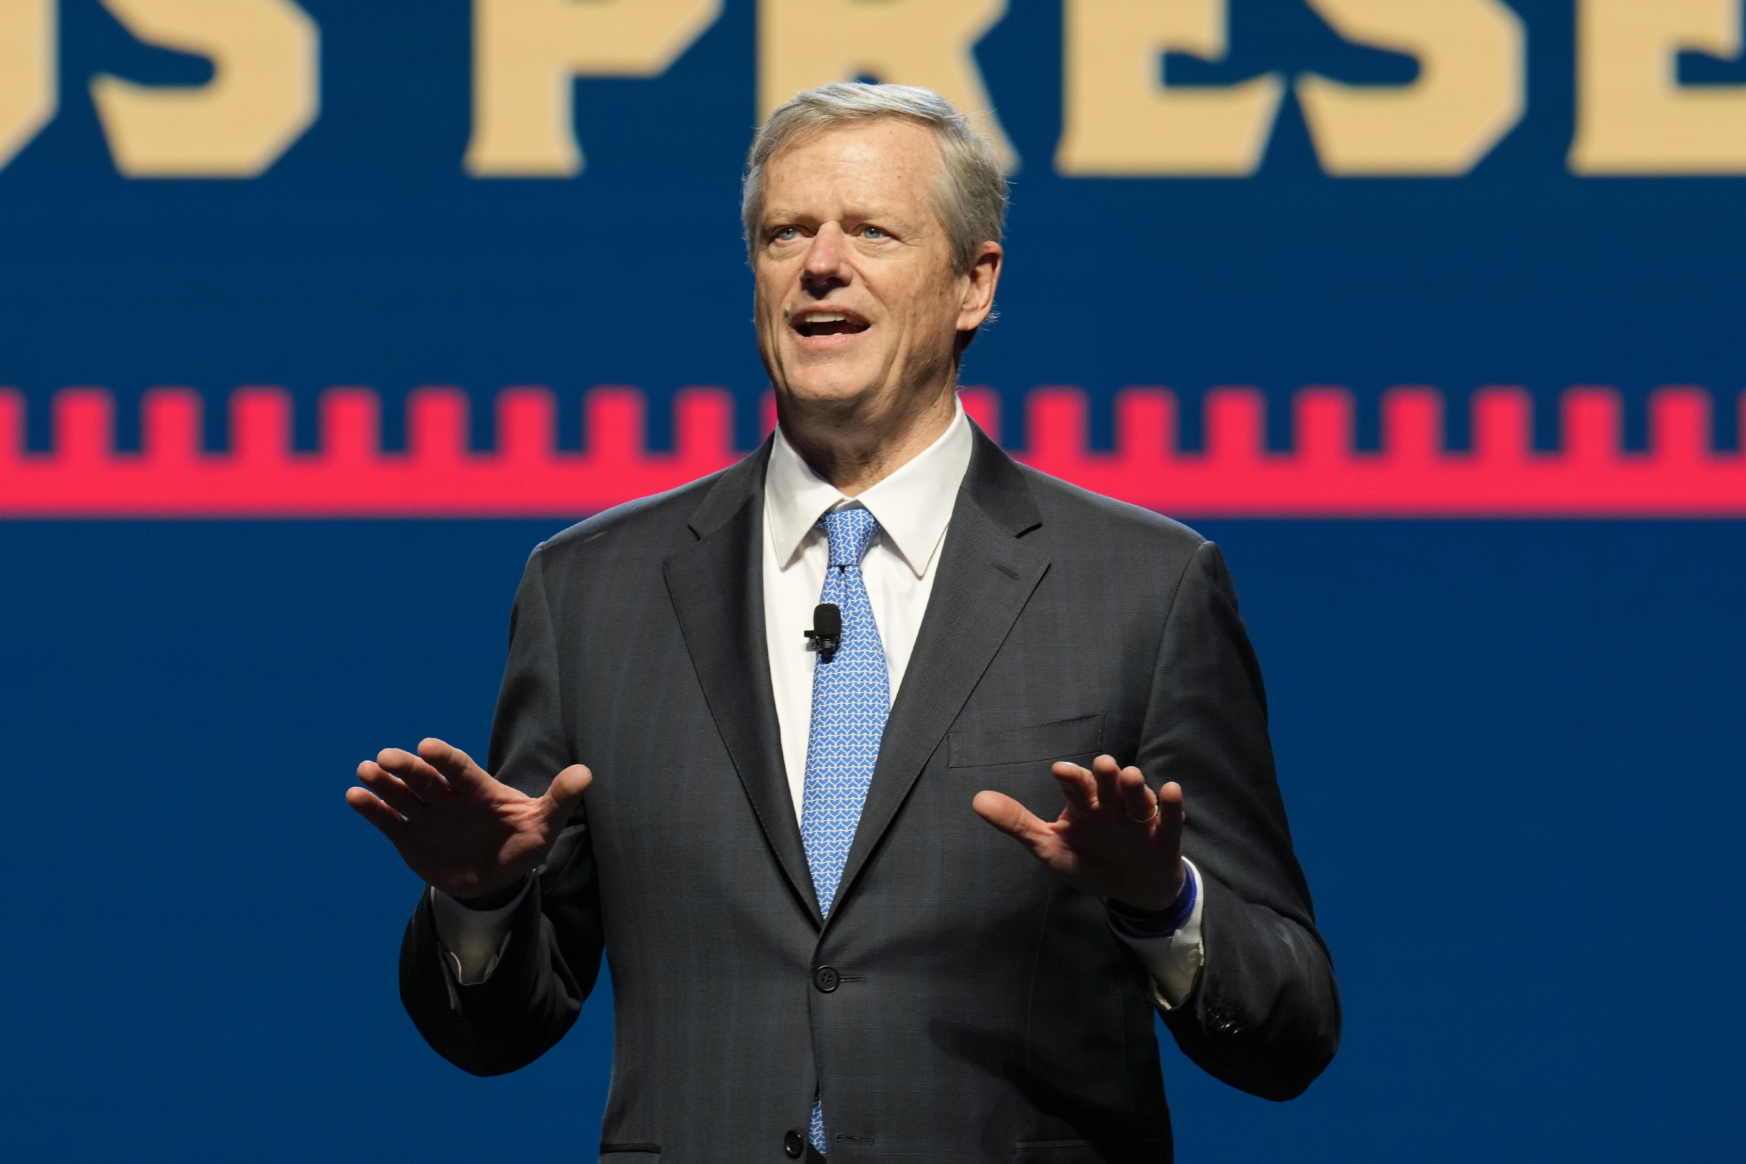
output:
M1006 0L760 0L758 115L801 89L861 75L920 86L969 113L1016 169L973 54L1004 16Z

